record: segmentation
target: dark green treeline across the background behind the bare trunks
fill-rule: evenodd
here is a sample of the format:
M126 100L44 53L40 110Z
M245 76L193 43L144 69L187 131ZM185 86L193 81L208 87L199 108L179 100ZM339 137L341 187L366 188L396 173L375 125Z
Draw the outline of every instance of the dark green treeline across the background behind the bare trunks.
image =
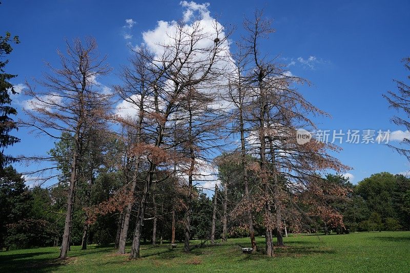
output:
M12 166L4 169L0 180L0 247L27 248L36 246L58 246L64 232L64 212L68 185L59 183L52 188L39 186L28 188L24 178ZM353 185L342 176L328 175L328 183L339 183L350 188L350 194L345 199L328 200L329 204L343 215L344 228L327 226L323 219L309 218L301 229L302 232L366 232L372 230L403 230L410 228L410 179L403 175L390 173L374 174L365 178L357 185ZM93 184L92 202L99 203L107 200L120 184L120 174L101 172ZM84 225L84 200L87 184L78 184L75 212L73 214L71 242L81 244ZM171 239L172 215L170 202L167 198L161 199L161 193L167 188L158 189L156 200L158 209L157 241ZM235 187L230 195L235 195ZM240 192L236 192L240 195ZM223 196L223 188L218 191ZM164 194L163 197L166 197ZM220 198L218 198L220 199ZM193 199L192 237L209 239L213 201L199 190ZM222 234L221 213L223 201L217 202L218 213L215 238ZM147 207L153 204L149 202ZM228 210L230 210L228 205ZM117 212L98 216L90 226L89 242L107 245L115 243L118 234ZM132 216L133 217L133 216ZM184 237L183 212L177 210L176 240ZM263 235L261 219L256 219L256 235ZM130 223L134 223L131 221ZM228 221L229 236L247 236L247 230L237 227L237 223ZM133 228L131 226L131 228ZM288 227L292 232L292 227ZM129 235L129 240L131 240ZM153 219L147 219L142 228L141 239L152 242Z

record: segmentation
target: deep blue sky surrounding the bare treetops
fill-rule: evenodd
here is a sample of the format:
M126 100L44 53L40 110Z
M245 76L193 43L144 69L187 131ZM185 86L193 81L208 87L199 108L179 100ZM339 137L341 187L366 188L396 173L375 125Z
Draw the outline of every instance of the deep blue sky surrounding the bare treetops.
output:
M127 64L128 43L140 44L141 33L155 29L158 20L180 19L186 8L179 1L2 1L2 31L19 35L7 66L18 74L13 84L40 77L44 61L58 64L56 50L64 50L64 39L94 36L101 54L108 54L114 68L101 79L106 86L118 83L115 73ZM396 90L395 79L405 79L401 58L410 55L408 1L208 1L211 16L224 25L236 26L232 39L242 34L243 16L255 8L273 19L276 33L263 41L261 50L280 57L294 75L309 79L311 87L299 90L331 119L317 119L320 129L405 130L391 123L396 112L388 109L382 94ZM202 2L197 2L201 4ZM127 26L126 19L135 24ZM130 22L130 21L129 21ZM128 36L127 39L125 35ZM24 97L17 96L20 109ZM21 112L21 111L20 111ZM44 154L53 143L36 138L27 130L16 135L22 142L8 153ZM397 142L395 142L397 143ZM350 165L354 183L373 173L401 173L409 163L385 145L340 145L340 160ZM27 167L16 165L19 171ZM35 167L35 166L31 166ZM30 168L31 168L30 167Z

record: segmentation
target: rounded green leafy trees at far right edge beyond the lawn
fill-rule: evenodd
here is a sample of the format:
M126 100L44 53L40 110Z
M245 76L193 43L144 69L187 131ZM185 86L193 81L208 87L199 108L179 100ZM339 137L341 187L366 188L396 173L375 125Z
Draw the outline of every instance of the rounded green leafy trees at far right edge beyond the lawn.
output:
M410 228L410 179L387 172L374 174L352 186L340 204L343 222L352 232Z

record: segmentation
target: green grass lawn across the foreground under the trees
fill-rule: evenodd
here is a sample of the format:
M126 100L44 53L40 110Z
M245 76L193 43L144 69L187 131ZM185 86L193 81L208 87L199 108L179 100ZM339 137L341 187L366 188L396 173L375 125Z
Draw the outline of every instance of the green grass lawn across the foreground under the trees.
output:
M257 242L264 247L264 238ZM55 259L58 247L0 251L0 272L410 272L410 232L294 235L284 242L272 258L242 254L240 246L249 246L248 238L197 247L190 254L182 252L181 243L175 249L142 245L137 260L96 245L72 247L63 262Z

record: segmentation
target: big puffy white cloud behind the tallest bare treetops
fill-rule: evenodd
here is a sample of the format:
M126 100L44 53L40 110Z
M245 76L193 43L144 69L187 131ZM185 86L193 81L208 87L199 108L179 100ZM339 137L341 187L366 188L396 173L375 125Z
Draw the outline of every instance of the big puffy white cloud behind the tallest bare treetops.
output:
M221 70L232 68L233 62L229 53L229 42L224 39L225 33L223 32L223 26L210 15L210 11L208 10L209 3L196 4L195 2L182 1L180 2L180 5L183 8L186 8L182 13L183 23L185 23L182 26L182 43L178 46L180 47L181 56L188 54L190 51L190 34L199 31L200 33L197 33L196 36L203 36L204 38L200 39L198 43L195 44L195 53L190 54L191 59L189 60L189 63L193 64L191 66L197 65L201 68L204 67L204 62L209 59L209 52L204 49L212 48L215 45L215 38L218 37L222 43L218 44L218 57L213 67ZM169 22L159 20L154 29L142 32L143 44L145 44L147 48L157 56L158 61L161 59L167 61L167 57L163 59L163 56L170 56L172 59L172 52L166 53L165 51L171 51L170 48L175 46L176 39L178 39L178 29L179 26L176 20ZM195 70L195 68L191 67L188 69L187 67L183 67L181 73L185 73L185 71L188 70L192 71ZM203 70L198 69L197 71L198 74L200 74ZM169 85L170 88L173 88L172 82L170 82ZM209 85L209 83L201 83L198 89L201 89L204 93L218 97L218 101L215 101L210 108L227 109L230 107L230 103L228 101L223 101L221 98L223 90L214 88Z

